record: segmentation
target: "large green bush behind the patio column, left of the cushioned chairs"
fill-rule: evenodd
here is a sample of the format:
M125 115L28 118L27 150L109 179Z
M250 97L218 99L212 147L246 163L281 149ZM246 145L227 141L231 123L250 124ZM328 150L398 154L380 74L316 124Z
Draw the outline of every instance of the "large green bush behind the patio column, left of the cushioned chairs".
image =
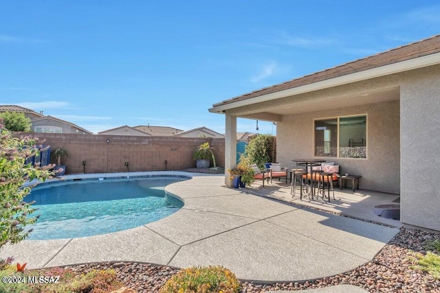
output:
M245 156L250 163L256 164L260 169L265 169L264 163L274 162L275 143L274 137L270 134L257 135L245 149Z

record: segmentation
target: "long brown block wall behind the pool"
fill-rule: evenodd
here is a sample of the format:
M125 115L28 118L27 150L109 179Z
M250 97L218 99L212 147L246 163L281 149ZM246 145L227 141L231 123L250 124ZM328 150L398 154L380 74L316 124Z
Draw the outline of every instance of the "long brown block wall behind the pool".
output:
M15 136L38 137L51 151L65 148L69 152L64 162L66 174L83 173L83 161L85 173L126 172L125 162L129 162L130 172L192 168L192 152L206 141L214 148L217 166L223 167L225 162L225 139L34 132L17 132ZM51 161L56 163L55 158Z

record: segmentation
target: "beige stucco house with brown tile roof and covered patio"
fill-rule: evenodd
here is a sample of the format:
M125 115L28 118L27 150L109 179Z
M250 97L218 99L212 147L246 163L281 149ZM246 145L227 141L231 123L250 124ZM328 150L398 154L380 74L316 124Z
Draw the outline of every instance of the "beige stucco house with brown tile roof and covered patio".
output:
M225 114L225 169L236 164L236 117L276 121L278 162L334 161L363 189L400 194L404 224L440 231L440 35L209 110Z

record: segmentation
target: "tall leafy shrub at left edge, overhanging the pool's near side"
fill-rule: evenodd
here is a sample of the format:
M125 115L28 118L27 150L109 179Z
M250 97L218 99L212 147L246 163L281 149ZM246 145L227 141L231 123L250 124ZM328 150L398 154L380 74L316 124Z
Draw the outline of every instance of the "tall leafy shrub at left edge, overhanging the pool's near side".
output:
M27 158L38 154L41 148L38 142L31 137L12 137L0 118L0 250L5 244L15 244L28 237L32 230L25 231L25 226L34 224L38 218L30 217L35 211L31 208L34 202L24 201L31 187L21 188L27 180L45 181L52 175L50 169L54 165L25 165Z

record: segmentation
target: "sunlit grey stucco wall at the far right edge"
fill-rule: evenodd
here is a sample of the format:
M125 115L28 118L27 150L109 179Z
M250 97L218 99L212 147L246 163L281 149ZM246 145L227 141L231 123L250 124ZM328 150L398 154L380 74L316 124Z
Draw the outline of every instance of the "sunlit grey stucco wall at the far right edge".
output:
M401 77L401 222L440 231L440 65Z

